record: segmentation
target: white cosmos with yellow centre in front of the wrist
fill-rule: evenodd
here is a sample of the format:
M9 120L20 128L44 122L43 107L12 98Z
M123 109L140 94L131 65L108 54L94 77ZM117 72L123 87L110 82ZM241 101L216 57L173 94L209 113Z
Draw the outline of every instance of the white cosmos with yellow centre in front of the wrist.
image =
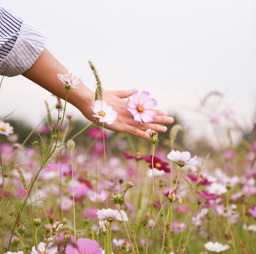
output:
M106 122L107 124L112 124L114 120L117 119L117 113L113 108L105 102L105 100L95 100L93 107L91 109L95 113L94 117L98 117L99 121Z

